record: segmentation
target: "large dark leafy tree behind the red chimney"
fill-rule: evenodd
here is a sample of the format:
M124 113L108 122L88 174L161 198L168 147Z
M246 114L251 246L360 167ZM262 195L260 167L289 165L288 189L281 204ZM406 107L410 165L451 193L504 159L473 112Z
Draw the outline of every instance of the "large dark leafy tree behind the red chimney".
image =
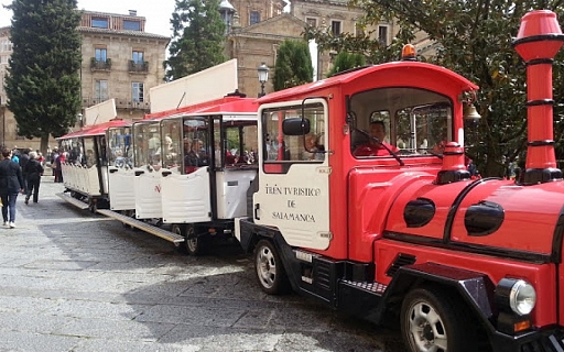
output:
M397 59L400 48L416 31L424 31L436 43L437 53L427 61L447 67L480 86L475 103L481 120L477 129L466 130L467 153L486 176L501 176L507 164L527 147L525 66L512 47L521 18L532 9L564 10L563 1L484 0L352 0L360 7L365 24L395 19L400 33L383 47L368 36L307 30L324 48L369 53L372 63ZM554 65L554 100L564 97L562 52ZM564 105L554 107L557 157L564 152ZM468 143L469 142L469 143ZM503 162L503 155L508 157ZM522 160L522 158L521 158Z

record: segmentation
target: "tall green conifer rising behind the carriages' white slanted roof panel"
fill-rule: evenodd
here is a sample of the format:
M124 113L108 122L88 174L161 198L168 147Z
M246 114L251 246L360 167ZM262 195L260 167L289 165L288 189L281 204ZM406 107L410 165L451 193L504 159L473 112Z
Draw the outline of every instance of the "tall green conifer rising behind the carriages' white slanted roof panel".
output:
M176 0L165 80L178 79L225 62L226 25L219 0Z

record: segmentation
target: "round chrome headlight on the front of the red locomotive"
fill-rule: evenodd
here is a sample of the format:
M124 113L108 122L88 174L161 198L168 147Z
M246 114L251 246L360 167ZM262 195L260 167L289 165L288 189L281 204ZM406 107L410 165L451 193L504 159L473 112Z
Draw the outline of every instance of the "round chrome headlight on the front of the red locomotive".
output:
M501 309L511 308L519 316L525 316L536 304L536 292L524 279L502 278L496 287L496 301Z

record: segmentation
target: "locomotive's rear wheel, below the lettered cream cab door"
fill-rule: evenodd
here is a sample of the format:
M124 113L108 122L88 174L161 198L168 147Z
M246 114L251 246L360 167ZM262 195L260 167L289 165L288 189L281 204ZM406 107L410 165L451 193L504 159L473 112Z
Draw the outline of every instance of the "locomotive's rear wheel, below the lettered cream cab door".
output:
M284 294L290 288L280 255L268 240L260 240L254 246L254 273L260 288L269 295Z

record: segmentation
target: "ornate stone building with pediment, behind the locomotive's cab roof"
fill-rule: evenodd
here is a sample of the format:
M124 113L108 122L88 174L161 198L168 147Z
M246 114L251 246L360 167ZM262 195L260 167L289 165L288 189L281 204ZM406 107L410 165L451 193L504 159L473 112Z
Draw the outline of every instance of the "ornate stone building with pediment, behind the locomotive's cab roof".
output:
M221 1L224 20L228 24L226 56L237 58L239 90L249 96L254 97L261 90L257 74L261 63L270 68L270 77L274 74L278 47L285 38L302 40L307 24L330 29L335 34L355 34L364 15L361 9L348 7L348 0L292 0L290 12L283 13L286 4L283 0ZM366 31L372 31L375 38L390 43L398 28L392 22L382 22ZM312 53L317 79L326 77L336 54ZM272 91L271 78L265 91Z

